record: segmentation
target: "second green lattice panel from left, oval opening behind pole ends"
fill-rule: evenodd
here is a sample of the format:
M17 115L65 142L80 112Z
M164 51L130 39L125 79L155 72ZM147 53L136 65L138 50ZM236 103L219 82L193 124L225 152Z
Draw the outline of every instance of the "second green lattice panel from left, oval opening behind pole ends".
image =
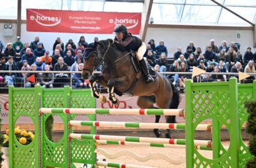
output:
M45 89L42 88L41 93L41 107L44 108L68 108L69 107L69 93L70 88ZM42 142L42 167L69 167L69 151L68 151L68 115L58 115L64 125L64 133L62 138L57 142L50 141L45 133L46 120L51 114L44 114L41 116L41 142Z

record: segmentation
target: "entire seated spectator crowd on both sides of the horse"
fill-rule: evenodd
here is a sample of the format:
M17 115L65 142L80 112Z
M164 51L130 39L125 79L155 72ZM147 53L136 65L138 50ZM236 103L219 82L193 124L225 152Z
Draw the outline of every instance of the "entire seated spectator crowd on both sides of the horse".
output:
M98 40L97 37L94 41ZM88 43L84 36L81 36L77 45L70 38L64 45L60 37L57 37L52 46L52 51L44 49L44 44L39 37L29 45L21 42L21 37L16 38L16 42L2 44L0 40L0 70L10 71L9 73L0 73L0 86L25 86L31 87L35 84L52 88L54 86L70 85L76 88L87 88L88 83L83 80L79 71L83 68L82 54ZM168 65L168 51L164 41L160 40L159 45L155 44L154 39L147 43L147 50L144 58L149 65L155 67L159 72L177 72L174 75L165 75L171 78L175 85L184 87L185 80L191 78L191 75L180 74L180 72L192 72L193 67L198 67L206 72L245 72L255 73L256 52L253 54L252 49L247 47L243 55L240 53L240 45L230 42L228 45L225 40L219 47L215 44L214 39L206 45L205 50L201 47L195 47L190 42L185 52L181 47L177 47L174 53L174 63ZM51 54L52 53L52 54ZM170 55L169 55L170 56ZM12 70L23 70L27 73L12 73ZM57 73L51 71L77 71L78 73ZM32 71L32 72L31 72ZM41 73L34 73L40 71ZM42 73L43 72L43 73ZM27 80L34 75L35 81ZM194 77L194 82L219 82L227 81L232 75L200 75ZM72 79L72 81L71 81ZM251 83L255 76L250 76L245 83ZM17 85L19 83L19 85Z

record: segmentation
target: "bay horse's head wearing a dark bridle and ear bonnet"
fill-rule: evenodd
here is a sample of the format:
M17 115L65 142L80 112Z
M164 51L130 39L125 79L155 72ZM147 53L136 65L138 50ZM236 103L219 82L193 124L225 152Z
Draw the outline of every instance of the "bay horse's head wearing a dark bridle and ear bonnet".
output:
M84 68L82 69L82 77L87 79L91 76L92 72L99 67L100 55L97 51L97 43L90 43L86 49L84 49Z

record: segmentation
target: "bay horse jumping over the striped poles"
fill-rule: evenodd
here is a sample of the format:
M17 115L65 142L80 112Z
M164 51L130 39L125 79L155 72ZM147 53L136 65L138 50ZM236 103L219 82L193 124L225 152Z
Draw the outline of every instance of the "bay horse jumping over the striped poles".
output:
M91 83L92 95L101 103L106 103L105 96L97 90L99 83L109 92L109 100L118 103L115 96L129 92L132 96L139 96L137 105L140 108L177 109L180 95L177 88L164 75L156 72L154 82L145 83L141 72L136 72L131 60L132 52L124 49L120 44L108 40L100 40L89 44L84 51L84 68L82 77ZM97 67L102 65L102 75L92 75ZM155 123L159 123L160 116L155 116ZM175 116L165 116L166 123L175 123ZM157 138L162 137L159 129L154 129ZM171 138L170 129L167 129L166 138Z

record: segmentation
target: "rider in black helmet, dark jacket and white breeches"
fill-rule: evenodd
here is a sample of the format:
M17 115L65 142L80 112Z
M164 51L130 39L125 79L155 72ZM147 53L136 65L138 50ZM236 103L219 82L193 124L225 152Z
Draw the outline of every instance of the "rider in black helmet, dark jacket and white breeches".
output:
M137 51L137 59L139 60L140 67L144 73L146 83L154 81L154 78L149 75L147 63L143 58L147 48L145 43L138 37L127 32L127 28L123 24L118 24L114 29L114 33L116 34L114 42L121 44L127 50Z

